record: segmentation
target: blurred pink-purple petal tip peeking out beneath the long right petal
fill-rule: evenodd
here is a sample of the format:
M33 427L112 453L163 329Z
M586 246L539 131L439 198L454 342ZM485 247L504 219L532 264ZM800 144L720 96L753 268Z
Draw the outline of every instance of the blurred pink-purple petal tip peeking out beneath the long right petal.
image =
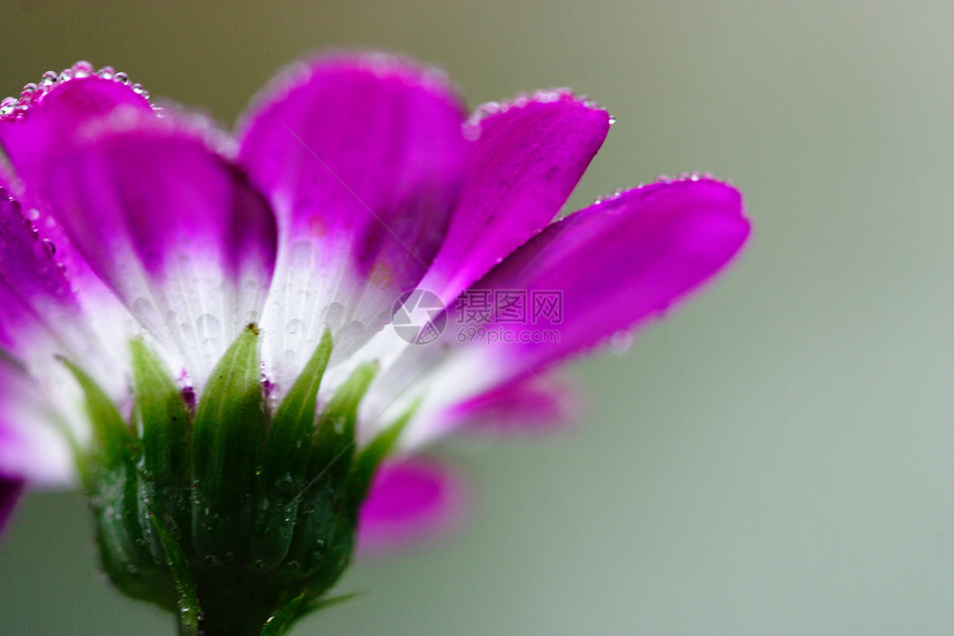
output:
M508 383L455 404L442 428L525 435L551 433L580 423L581 398L568 382L551 376Z

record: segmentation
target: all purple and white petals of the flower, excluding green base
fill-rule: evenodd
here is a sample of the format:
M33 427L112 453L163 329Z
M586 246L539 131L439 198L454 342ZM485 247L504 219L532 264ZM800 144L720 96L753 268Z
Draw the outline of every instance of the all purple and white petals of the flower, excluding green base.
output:
M112 69L28 84L0 103L0 524L21 484L73 481L95 436L63 361L132 421L131 341L194 405L250 323L268 408L326 330L319 405L380 369L359 446L413 408L363 508L368 544L446 519L454 482L400 457L557 417L552 367L666 311L748 236L739 193L698 175L554 222L610 123L566 90L468 119L443 75L382 54L292 69L234 138Z

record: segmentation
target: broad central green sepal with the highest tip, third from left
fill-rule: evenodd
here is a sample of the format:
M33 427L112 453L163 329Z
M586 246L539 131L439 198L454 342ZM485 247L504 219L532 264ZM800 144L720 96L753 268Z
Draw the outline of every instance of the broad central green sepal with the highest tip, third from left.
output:
M267 423L258 329L248 325L203 388L193 425L192 539L209 563L247 547L255 521L255 465Z

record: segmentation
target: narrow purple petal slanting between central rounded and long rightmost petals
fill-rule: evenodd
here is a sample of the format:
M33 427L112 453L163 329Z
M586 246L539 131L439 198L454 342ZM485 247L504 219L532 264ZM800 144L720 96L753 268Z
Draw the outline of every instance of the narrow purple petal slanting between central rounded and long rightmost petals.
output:
M564 92L486 113L447 238L422 289L449 304L559 212L609 130L609 114Z

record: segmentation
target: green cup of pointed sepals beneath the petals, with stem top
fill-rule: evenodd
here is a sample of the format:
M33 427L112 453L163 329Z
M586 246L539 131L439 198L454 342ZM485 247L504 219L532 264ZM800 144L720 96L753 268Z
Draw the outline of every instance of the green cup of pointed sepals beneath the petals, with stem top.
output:
M124 594L176 614L180 634L278 635L336 599L358 508L409 413L358 450L358 405L376 365L355 370L321 410L326 332L272 413L248 325L194 407L141 340L135 402L119 408L73 361L93 424L80 471L102 566Z

